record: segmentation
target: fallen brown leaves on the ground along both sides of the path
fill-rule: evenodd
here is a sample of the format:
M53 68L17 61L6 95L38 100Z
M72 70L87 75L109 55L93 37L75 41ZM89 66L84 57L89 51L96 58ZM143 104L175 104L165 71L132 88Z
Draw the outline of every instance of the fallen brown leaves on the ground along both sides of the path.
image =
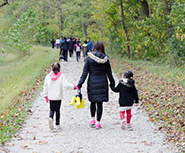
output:
M183 150L185 146L185 108L184 89L175 82L167 82L150 74L142 67L133 66L111 57L111 65L118 78L124 70L134 72L134 79L139 91L140 104L146 110L149 120L155 122L158 129L167 135L166 141L175 143ZM21 91L11 104L8 112L1 113L0 140L4 144L10 137L16 137L30 110L30 99L36 95L35 89L42 83L47 68L44 68L35 84L27 91ZM44 72L44 73L43 73Z

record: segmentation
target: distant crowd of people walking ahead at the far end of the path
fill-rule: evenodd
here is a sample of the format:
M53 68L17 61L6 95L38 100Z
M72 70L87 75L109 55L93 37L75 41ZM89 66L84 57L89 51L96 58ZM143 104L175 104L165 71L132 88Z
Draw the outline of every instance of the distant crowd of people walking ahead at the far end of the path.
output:
M52 49L54 49L55 45L57 46L57 49L60 49L59 60L63 59L66 62L68 61L68 52L70 57L72 57L73 52L75 52L76 61L79 62L81 57L81 50L85 61L87 53L92 52L93 49L93 43L91 42L90 38L87 38L87 40L84 41L83 45L81 45L79 38L75 39L70 37L69 39L67 39L66 37L64 37L64 39L57 38L56 41L54 40L54 38L52 38L51 40Z

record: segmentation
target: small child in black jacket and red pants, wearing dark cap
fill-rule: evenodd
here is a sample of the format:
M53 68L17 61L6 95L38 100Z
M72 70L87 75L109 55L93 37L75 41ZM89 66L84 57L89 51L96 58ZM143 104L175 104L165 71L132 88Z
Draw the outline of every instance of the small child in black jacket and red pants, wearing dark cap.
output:
M121 129L125 129L125 112L126 117L126 127L132 130L130 125L131 120L131 109L134 103L138 103L138 93L134 85L135 81L132 79L133 73L131 71L126 71L123 74L123 78L119 81L117 87L111 85L111 89L114 92L119 92L119 114L121 118Z

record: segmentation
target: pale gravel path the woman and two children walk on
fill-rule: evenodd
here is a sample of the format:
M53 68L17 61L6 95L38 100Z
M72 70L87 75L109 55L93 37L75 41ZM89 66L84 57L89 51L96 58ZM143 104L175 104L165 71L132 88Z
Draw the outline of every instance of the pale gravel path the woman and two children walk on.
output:
M77 84L84 62L61 63L62 73L67 80ZM116 79L116 82L118 80ZM89 102L86 83L82 87L85 108L77 110L70 106L76 91L65 91L61 107L60 131L49 130L49 107L42 92L38 94L31 110L33 114L27 119L17 138L7 143L4 151L10 153L175 153L173 144L165 144L164 135L148 120L145 113L133 107L131 124L133 131L121 130L118 107L118 94L110 91L108 103L104 103L101 121L102 129L90 128Z

